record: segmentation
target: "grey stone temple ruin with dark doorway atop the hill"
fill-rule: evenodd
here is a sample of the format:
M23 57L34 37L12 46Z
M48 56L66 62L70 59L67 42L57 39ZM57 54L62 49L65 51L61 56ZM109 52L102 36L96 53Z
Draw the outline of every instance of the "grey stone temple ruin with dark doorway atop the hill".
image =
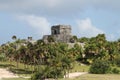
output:
M70 25L54 25L51 27L51 35L44 35L43 40L47 43L52 37L55 42L69 43L72 38Z

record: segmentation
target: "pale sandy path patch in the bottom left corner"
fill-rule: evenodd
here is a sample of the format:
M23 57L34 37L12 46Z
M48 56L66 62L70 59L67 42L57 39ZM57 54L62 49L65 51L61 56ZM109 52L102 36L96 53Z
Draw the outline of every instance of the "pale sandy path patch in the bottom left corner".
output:
M7 69L2 69L0 68L0 80L2 78L18 78L19 76L11 73L10 71L8 71Z

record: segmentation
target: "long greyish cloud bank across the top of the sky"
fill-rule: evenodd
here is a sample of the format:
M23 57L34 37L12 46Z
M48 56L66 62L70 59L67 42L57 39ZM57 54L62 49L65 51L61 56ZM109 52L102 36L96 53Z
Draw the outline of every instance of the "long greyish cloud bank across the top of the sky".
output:
M47 16L71 16L90 7L118 13L120 0L0 0L0 10Z

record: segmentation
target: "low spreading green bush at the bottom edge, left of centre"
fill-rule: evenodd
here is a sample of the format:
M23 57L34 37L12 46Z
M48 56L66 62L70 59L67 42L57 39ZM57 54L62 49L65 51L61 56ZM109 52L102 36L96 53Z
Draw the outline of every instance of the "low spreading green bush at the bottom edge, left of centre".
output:
M63 78L63 71L54 67L41 68L35 72L30 80L44 80L45 78Z

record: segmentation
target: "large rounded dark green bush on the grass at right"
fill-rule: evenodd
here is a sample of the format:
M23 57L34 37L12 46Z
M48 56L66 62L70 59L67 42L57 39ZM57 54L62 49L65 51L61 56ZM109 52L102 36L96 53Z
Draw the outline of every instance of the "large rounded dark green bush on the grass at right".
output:
M90 67L90 73L93 74L106 74L111 71L111 66L108 61L96 60Z

